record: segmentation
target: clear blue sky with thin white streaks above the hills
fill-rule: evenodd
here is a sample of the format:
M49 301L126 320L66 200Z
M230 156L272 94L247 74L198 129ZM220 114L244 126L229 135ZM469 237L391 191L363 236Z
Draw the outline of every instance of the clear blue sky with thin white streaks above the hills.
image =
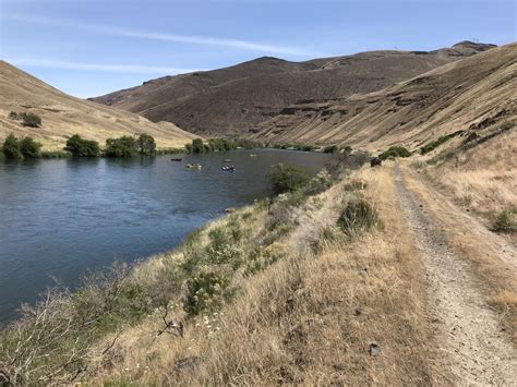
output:
M517 0L0 0L0 58L77 97L258 57L516 39Z

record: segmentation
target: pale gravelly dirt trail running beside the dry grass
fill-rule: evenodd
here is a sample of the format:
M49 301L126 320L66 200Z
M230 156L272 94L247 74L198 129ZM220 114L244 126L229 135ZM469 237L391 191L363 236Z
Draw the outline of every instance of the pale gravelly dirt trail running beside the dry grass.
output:
M426 204L416 201L398 166L395 182L425 268L430 299L426 313L440 351L437 370L461 385L517 385L517 351L486 304L484 285L474 275L471 262L447 245L447 225L435 220ZM515 254L505 253L509 258Z

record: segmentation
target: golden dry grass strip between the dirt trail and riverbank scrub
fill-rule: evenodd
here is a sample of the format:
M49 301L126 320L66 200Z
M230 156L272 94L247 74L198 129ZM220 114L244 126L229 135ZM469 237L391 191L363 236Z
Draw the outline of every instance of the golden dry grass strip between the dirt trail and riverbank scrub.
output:
M189 323L183 338L156 337L160 317L152 315L121 336L120 361L98 380L430 384L432 346L422 316L420 268L393 182L388 171L361 178L371 188L361 195L390 227L354 242L333 238L316 255L285 245L288 256L242 281L241 297L220 314ZM345 190L338 184L330 192ZM314 217L318 214L328 213L313 209ZM378 355L370 353L373 343Z

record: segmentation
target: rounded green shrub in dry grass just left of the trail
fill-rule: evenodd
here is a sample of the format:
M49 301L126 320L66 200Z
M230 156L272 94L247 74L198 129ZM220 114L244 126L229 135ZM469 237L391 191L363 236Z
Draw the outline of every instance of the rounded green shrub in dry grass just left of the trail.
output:
M337 226L347 234L380 226L377 211L365 199L352 198L341 211Z

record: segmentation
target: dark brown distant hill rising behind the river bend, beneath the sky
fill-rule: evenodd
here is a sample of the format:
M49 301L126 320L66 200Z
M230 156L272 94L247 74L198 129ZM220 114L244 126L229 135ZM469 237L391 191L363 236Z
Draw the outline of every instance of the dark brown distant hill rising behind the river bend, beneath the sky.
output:
M465 41L430 52L384 50L306 62L265 57L161 77L93 100L193 133L242 135L296 101L378 90L492 47Z

